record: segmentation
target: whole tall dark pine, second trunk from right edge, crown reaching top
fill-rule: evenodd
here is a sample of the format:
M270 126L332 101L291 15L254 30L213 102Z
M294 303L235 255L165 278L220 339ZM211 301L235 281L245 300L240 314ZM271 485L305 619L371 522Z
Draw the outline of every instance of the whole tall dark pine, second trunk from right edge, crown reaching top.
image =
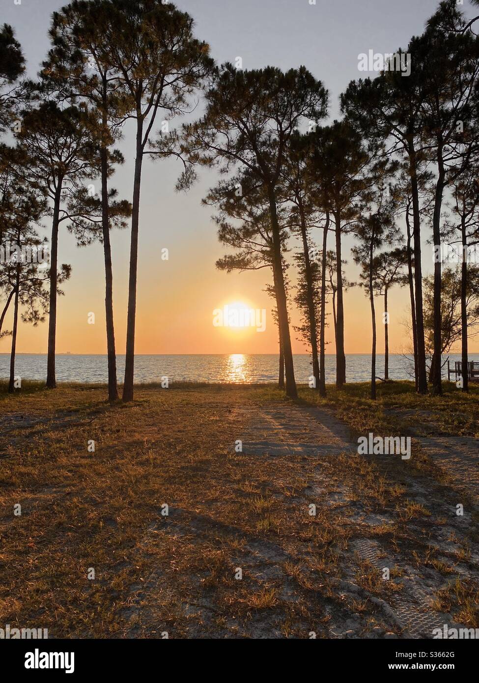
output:
M474 128L474 96L479 81L479 38L463 33L464 16L456 0L443 0L428 20L426 31L411 42L413 68L420 70L422 137L436 168L433 240L440 255L443 194L469 163L465 132ZM441 258L434 264L434 352L430 378L433 392L441 387Z

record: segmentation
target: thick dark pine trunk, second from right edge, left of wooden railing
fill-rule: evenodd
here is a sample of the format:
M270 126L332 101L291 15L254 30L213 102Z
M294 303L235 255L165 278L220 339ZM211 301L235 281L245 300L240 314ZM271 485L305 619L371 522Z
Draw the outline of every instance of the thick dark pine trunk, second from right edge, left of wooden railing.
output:
M434 351L433 361L430 366L430 377L433 382L433 393L441 395L441 207L444 191L444 169L441 161L441 149L439 154L439 174L436 182L434 214L433 214L433 239L434 239L434 299L433 299L433 336Z

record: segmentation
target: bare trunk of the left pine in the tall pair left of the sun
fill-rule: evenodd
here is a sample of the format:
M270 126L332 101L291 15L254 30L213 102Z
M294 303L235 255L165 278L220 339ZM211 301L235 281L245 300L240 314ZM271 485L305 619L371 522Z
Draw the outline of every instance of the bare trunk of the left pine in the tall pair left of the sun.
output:
M103 112L102 126L107 128L106 115L107 83L103 77ZM113 269L111 266L111 243L108 209L108 159L107 148L102 145L101 151L101 198L102 198L102 234L103 255L105 257L105 314L107 321L107 354L108 354L108 400L118 400L118 387L116 384L116 350L115 350L115 326L113 323Z

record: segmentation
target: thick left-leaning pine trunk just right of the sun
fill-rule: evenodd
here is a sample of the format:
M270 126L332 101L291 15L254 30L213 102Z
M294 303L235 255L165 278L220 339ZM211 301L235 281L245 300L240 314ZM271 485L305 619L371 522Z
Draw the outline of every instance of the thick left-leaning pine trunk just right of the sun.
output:
M271 230L273 233L273 273L275 279L277 316L279 333L283 340L284 367L286 371L286 395L289 396L289 398L297 398L298 392L295 382L295 369L292 362L291 336L288 321L288 303L286 301L286 290L284 288L281 239L276 212L276 197L273 189L269 190L269 210Z

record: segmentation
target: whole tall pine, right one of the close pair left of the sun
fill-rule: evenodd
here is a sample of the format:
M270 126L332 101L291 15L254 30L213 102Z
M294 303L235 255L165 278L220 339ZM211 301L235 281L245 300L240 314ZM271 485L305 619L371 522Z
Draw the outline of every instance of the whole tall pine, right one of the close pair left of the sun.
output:
M202 86L213 61L208 56L208 45L193 37L191 16L178 10L173 3L163 3L161 0L102 0L100 10L98 35L102 33L103 40L96 45L98 64L114 74L115 83L125 93L124 113L136 124L123 387L123 400L131 401L143 157L146 154L163 157L172 153L168 145L156 145L159 146L158 150L148 147L157 115L163 111L165 117L171 119L189 111L191 95Z

